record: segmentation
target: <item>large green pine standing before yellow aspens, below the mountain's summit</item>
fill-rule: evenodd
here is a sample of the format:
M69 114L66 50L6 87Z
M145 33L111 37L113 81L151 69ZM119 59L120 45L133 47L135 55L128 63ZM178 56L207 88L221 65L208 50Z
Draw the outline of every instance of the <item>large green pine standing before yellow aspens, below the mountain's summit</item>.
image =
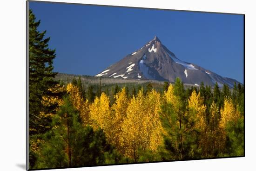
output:
M186 109L188 101L179 78L176 79L174 86L169 86L168 91L164 93L164 99L161 119L167 132L164 136L167 159L198 157L199 152L196 148L198 133L194 129L195 116Z

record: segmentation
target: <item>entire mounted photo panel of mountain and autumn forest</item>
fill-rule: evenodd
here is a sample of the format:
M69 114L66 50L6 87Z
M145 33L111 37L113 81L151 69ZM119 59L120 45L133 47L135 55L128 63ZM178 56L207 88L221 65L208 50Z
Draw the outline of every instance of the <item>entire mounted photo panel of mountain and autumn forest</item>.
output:
M27 1L27 170L244 157L244 14Z

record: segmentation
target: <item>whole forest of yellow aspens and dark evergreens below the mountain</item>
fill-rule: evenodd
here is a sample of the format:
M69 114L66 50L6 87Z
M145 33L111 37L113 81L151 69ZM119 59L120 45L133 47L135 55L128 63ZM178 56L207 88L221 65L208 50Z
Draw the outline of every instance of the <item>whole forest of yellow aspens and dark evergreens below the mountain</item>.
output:
M29 168L244 156L244 87L56 81L29 11Z

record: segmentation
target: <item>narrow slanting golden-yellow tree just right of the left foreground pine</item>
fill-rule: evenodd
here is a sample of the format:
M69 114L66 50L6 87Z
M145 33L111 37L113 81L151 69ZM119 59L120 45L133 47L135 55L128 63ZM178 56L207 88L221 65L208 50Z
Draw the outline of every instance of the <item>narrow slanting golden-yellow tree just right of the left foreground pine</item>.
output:
M89 120L89 102L84 100L79 88L72 83L67 84L67 93L69 93L70 100L74 106L79 111L82 124L85 126L90 123Z

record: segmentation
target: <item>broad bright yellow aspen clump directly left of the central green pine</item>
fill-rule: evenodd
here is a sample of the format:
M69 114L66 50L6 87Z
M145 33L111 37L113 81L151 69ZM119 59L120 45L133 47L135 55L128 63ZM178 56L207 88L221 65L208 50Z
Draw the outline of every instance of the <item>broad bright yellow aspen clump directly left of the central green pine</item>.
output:
M122 124L121 143L123 153L138 161L138 150L156 150L162 143L162 125L158 115L160 95L152 90L145 97L143 89L133 97L128 105L127 117Z

